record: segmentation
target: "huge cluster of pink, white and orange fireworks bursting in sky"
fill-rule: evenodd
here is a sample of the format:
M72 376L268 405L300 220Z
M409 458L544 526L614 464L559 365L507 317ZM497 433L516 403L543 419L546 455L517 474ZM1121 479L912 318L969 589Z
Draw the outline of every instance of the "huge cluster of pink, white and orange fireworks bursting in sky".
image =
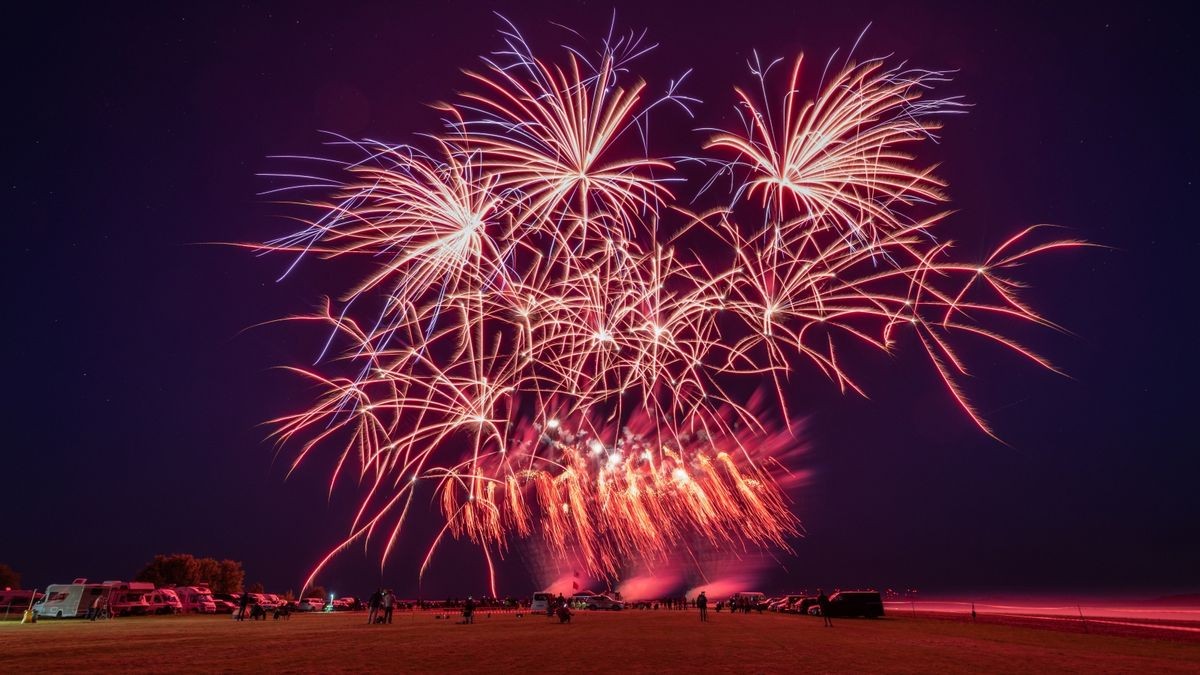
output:
M950 256L935 235L944 183L904 150L961 110L926 96L944 73L847 62L804 100L803 59L779 91L756 59L761 94L736 89L744 127L689 157L718 167L701 193L727 178L731 199L692 213L679 160L650 156L647 131L652 109L698 101L683 78L658 97L629 82L653 46L610 35L552 62L515 26L502 35L506 49L467 73L474 89L438 106L433 151L340 142L362 156L294 186L319 191L298 202L317 217L259 246L366 262L304 317L330 339L318 368L292 370L322 395L274 420L293 470L334 448L330 490L343 472L361 484L317 571L373 537L385 563L422 485L445 520L422 574L445 536L480 545L493 579L514 538L608 579L696 546L786 550L797 371L863 394L844 345L888 352L911 331L990 434L955 339L1051 368L989 323L1052 325L1009 274L1080 243L1030 227L982 262ZM767 388L739 402L738 382Z

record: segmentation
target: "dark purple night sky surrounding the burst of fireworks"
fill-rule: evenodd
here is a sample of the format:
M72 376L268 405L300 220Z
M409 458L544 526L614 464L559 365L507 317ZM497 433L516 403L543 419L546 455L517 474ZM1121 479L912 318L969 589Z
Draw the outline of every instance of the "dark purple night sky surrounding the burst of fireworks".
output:
M270 155L320 154L319 130L436 131L426 103L500 46L492 10L551 54L564 34L548 22L599 37L612 12L420 5L8 14L0 562L26 586L127 579L182 551L241 560L248 581L283 591L343 536L353 486L326 500L328 458L284 480L262 424L308 402L274 366L312 363L324 334L252 327L312 310L344 280L312 261L277 283L287 258L211 243L290 232L256 174L280 168ZM823 62L872 23L859 54L956 68L943 92L973 104L922 150L950 183L947 232L964 256L1037 222L1110 247L1025 270L1026 297L1072 334L1018 335L1070 377L970 350L967 392L1007 444L971 425L916 345L858 357L870 400L799 372L808 537L763 590L1200 590L1193 24L1130 4L895 5L617 4L619 24L661 44L638 71L653 90L696 71L688 92L704 104L695 121L664 120L661 154L732 124L751 49ZM424 521L386 568L402 596L418 592L436 507ZM377 556L352 549L320 581L373 587ZM523 569L520 555L502 566L502 592L533 590ZM485 583L481 556L451 544L420 592Z

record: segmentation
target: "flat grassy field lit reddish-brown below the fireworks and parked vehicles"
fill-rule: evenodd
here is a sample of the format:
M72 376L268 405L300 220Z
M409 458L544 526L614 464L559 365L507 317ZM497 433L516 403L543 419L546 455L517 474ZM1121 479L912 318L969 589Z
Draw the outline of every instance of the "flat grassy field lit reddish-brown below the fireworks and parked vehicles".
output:
M397 613L246 621L228 615L0 623L0 673L66 671L1200 671L1200 641L895 616L836 620L696 610L478 615Z

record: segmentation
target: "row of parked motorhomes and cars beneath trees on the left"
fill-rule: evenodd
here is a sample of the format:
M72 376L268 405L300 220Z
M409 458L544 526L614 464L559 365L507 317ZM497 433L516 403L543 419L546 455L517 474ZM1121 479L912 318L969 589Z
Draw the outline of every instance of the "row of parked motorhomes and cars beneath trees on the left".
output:
M258 607L274 613L287 608L292 611L334 611L358 605L354 598L324 598L287 601L275 593L246 593L247 611ZM241 607L238 593L214 593L205 586L172 586L158 589L145 581L103 581L89 584L76 579L70 584L50 584L34 604L38 617L71 619L88 616L102 608L112 616L146 616L154 614L233 614Z

